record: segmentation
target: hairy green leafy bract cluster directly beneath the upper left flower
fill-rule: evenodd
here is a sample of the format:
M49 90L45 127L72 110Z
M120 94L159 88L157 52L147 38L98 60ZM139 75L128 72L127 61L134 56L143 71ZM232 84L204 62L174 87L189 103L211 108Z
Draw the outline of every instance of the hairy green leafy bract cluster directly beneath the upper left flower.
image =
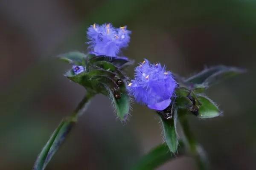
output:
M122 69L131 64L127 59L94 56L81 52L62 54L60 58L70 64L82 65L85 71L75 74L72 69L64 74L68 79L82 85L87 91L94 94L108 96L122 122L125 122L129 109L130 98L126 90L127 78Z

